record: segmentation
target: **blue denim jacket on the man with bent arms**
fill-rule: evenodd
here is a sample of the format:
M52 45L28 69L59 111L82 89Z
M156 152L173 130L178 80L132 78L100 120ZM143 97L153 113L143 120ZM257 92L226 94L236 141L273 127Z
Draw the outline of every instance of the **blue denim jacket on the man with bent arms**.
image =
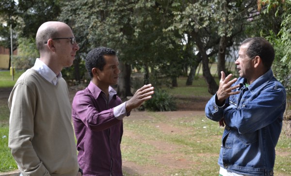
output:
M272 176L275 146L282 130L286 90L273 71L260 76L247 88L239 78L234 85L241 93L226 99L219 107L214 95L205 107L208 118L225 119L218 164L226 170L250 176ZM233 86L234 86L233 85Z

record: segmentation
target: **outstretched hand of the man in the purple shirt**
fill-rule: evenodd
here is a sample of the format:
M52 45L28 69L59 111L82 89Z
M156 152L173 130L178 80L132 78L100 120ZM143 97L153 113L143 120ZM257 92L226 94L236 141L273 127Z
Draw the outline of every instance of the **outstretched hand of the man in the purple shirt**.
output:
M131 111L134 108L139 107L144 103L146 100L152 98L152 94L154 93L154 87L151 84L145 85L142 88L138 89L133 97L126 102L126 112Z

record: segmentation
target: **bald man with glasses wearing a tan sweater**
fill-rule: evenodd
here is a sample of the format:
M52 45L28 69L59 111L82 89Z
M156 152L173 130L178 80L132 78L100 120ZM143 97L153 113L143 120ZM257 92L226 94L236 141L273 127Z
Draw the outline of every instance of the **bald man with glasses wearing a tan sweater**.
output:
M79 46L71 28L56 21L39 27L36 46L40 58L19 77L8 100L8 146L23 176L81 176L61 73Z

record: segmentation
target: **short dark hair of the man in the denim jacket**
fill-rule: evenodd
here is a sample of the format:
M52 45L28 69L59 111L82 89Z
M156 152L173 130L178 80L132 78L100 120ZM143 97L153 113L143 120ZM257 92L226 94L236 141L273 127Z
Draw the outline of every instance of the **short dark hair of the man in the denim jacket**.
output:
M265 68L267 70L271 68L275 59L275 50L267 40L262 37L254 37L245 39L242 44L249 44L246 50L246 55L250 59L254 59L256 56L259 56L262 59Z

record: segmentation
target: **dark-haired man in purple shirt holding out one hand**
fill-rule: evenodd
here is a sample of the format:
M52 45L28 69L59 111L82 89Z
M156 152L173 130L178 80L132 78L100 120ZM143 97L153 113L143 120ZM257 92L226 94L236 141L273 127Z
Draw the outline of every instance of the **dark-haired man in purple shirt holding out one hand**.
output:
M83 176L122 176L122 119L149 100L154 88L151 84L145 85L129 101L122 103L111 87L118 83L120 70L116 53L110 48L91 50L85 66L91 82L76 93L72 104L78 161Z

